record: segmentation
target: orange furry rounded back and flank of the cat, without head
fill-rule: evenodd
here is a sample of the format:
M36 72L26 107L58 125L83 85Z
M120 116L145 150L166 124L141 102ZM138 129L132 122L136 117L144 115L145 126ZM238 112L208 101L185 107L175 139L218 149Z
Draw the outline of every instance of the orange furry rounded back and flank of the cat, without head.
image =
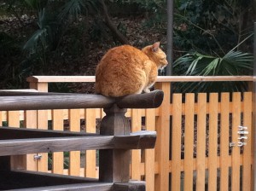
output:
M96 93L125 96L141 92L146 83L146 60L142 50L130 45L109 49L96 67Z

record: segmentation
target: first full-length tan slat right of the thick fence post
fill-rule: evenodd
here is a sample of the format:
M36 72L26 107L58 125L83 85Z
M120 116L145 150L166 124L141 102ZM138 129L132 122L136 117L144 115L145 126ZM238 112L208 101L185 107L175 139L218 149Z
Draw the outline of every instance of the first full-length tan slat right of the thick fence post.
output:
M181 135L182 94L172 95L172 189L180 190L181 178Z

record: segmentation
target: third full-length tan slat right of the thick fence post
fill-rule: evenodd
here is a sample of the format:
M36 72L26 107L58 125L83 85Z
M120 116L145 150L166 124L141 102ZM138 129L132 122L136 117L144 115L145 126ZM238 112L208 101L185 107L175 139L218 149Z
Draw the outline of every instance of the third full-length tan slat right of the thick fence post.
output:
M205 190L206 178L207 94L198 94L197 145L196 145L196 191Z

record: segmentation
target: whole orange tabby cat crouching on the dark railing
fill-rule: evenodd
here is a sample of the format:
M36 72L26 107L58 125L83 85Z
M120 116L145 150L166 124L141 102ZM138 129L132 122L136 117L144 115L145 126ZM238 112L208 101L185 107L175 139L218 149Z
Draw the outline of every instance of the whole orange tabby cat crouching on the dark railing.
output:
M149 92L158 69L167 65L160 43L142 50L130 45L109 49L96 67L96 93L104 96L127 96Z

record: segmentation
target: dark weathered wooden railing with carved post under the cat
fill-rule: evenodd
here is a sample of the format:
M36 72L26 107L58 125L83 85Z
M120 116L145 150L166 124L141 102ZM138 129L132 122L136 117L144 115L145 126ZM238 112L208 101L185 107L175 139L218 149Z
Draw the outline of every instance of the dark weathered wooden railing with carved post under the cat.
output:
M129 119L125 117L125 113L128 107L160 107L163 96L160 90L119 99L92 94L1 90L0 111L103 107L106 116L102 119L99 133L29 130L1 125L0 189L145 191L144 182L130 181L130 149L154 148L156 132L140 130L131 133ZM22 156L21 154L63 151L69 151L72 154L72 152L91 149L99 150L100 171L97 179L51 176L49 173L31 172L26 171L22 166L14 166L17 165L15 162L22 160L16 157ZM38 156L35 159L38 159ZM16 182L17 178L18 182Z

